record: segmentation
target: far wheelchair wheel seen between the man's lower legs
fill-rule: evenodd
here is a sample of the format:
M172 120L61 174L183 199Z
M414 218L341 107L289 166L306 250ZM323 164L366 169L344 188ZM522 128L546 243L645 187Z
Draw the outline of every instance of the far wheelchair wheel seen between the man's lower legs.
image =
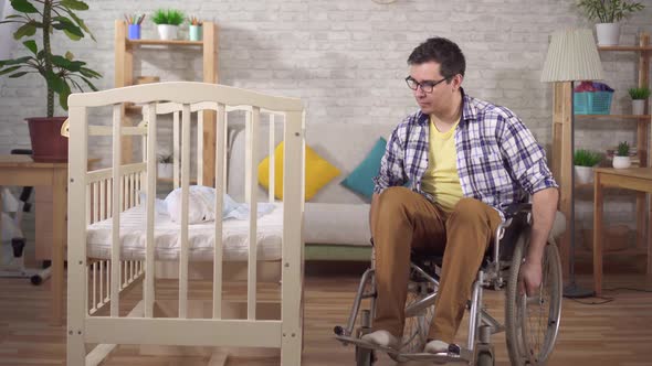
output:
M413 306L422 302L425 298L437 291L435 286L430 282L410 282L408 287L408 299L406 308ZM403 337L401 340L401 353L413 354L423 352L428 342L428 332L434 317L434 298L430 297L428 303L417 306L419 310L413 311L411 315L406 316L403 326ZM400 356L390 355L396 362L406 362Z

